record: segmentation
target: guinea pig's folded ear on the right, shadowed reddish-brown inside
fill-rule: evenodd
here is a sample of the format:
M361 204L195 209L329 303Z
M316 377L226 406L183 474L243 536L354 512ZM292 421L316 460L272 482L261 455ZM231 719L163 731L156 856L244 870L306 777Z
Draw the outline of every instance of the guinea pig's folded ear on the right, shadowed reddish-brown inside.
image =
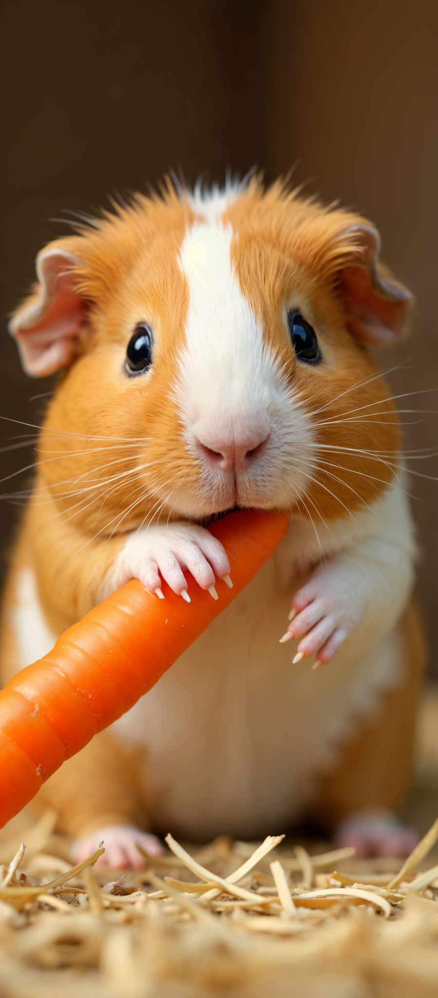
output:
M378 262L380 236L365 223L349 226L336 239L352 243L357 255L338 271L349 331L366 343L385 346L408 331L412 295Z

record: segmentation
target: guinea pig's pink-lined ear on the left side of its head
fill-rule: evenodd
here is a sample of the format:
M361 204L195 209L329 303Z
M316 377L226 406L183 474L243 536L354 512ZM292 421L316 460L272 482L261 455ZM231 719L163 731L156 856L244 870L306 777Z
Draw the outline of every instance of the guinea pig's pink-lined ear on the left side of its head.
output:
M59 244L41 250L37 287L9 323L23 367L34 377L67 367L79 352L86 315L86 302L75 289L79 262Z

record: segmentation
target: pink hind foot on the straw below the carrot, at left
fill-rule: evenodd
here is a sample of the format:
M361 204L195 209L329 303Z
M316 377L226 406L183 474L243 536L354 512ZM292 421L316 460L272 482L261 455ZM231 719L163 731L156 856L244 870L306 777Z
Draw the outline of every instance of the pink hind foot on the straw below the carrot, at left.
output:
M137 848L137 843L150 856L161 856L163 843L149 832L128 824L114 824L97 829L90 835L77 838L72 845L72 855L77 863L82 862L99 848L103 842L105 852L99 856L96 866L109 866L111 869L143 869L145 857Z

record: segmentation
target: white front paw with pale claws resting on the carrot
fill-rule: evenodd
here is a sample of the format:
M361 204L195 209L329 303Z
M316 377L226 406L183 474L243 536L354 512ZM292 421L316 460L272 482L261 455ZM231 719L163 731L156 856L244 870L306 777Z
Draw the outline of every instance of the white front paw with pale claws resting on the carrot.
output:
M198 524L177 522L148 527L130 535L107 585L110 591L129 579L140 579L163 599L162 581L190 603L184 575L189 571L202 589L218 599L216 579L231 586L229 562L220 542Z

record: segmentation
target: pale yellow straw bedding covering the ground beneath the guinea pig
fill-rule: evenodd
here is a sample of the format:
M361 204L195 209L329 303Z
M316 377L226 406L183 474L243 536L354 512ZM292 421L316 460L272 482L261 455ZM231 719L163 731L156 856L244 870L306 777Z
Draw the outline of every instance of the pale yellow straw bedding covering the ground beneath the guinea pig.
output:
M102 849L71 866L54 821L0 846L2 996L437 994L438 866L417 867L438 821L398 872L282 836L194 850L169 835L170 853L122 877L94 867Z

